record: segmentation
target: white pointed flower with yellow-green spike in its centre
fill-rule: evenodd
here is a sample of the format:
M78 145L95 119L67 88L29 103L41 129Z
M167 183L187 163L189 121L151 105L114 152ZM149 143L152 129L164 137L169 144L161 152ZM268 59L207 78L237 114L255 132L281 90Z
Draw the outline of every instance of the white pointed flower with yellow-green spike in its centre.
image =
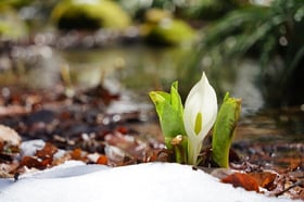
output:
M188 136L188 163L198 164L198 156L207 132L217 116L217 98L205 73L190 90L183 111L183 126Z

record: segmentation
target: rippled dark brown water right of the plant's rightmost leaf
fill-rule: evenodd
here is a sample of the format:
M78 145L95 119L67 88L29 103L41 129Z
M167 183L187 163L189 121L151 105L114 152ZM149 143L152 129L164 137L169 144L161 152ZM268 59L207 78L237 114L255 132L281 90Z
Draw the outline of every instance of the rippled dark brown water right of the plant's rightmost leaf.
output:
M304 112L300 108L264 110L240 121L235 140L274 144L304 142L303 123Z

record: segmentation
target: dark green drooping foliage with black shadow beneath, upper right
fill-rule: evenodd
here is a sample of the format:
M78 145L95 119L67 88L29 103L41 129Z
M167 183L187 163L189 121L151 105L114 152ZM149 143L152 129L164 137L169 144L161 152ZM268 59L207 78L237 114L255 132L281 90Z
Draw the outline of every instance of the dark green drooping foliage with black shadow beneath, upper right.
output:
M208 54L215 66L243 56L257 58L261 80L268 87L281 89L281 93L274 98L267 98L265 93L266 99L271 104L280 104L282 99L288 104L302 103L303 36L303 0L274 0L269 5L248 4L232 10L204 29L201 55Z

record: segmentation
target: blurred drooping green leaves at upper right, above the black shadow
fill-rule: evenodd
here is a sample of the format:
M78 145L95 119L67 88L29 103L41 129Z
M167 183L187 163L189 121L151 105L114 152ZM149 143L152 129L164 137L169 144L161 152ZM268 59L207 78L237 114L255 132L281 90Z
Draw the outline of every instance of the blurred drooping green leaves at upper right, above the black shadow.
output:
M263 64L277 53L286 54L286 59L296 63L296 59L303 56L303 47L296 43L303 42L300 37L303 17L304 3L301 0L288 3L275 0L269 7L251 4L231 11L212 24L203 43L205 48L217 48L224 56L241 56L255 49L261 52ZM291 55L292 52L296 54Z

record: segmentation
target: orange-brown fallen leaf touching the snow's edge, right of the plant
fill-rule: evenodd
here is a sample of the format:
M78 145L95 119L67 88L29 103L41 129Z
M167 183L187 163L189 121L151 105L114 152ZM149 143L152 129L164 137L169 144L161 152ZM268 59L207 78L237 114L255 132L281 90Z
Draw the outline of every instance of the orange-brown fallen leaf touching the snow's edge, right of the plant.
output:
M232 184L233 187L242 187L248 191L258 192L258 185L255 178L249 174L235 173L221 179L225 184Z

